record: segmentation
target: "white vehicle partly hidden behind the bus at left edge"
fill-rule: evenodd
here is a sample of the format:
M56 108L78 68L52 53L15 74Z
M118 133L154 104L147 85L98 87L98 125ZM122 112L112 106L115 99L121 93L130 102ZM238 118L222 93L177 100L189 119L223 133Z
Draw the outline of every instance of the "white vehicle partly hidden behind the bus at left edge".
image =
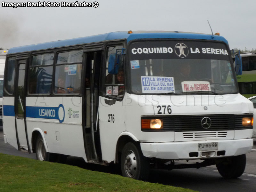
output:
M0 125L3 124L4 66L8 50L0 50Z

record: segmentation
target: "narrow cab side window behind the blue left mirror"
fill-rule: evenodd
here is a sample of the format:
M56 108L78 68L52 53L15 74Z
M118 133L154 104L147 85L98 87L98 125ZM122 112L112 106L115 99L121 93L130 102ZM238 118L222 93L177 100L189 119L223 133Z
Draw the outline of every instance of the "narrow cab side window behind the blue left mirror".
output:
M124 78L124 60L123 56L120 57L120 63L117 75L112 75L108 73L108 60L110 54L115 54L116 52L122 52L123 45L111 46L107 49L107 60L106 60L106 74L105 74L105 94L107 96L115 96L122 98L125 92L125 78Z

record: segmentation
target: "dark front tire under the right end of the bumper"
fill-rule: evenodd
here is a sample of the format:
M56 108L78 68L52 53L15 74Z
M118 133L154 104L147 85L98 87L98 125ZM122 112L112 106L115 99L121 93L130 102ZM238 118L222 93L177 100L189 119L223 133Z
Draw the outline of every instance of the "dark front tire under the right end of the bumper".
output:
M224 178L238 178L244 173L246 165L245 154L239 156L227 157L225 161L216 164L220 175Z

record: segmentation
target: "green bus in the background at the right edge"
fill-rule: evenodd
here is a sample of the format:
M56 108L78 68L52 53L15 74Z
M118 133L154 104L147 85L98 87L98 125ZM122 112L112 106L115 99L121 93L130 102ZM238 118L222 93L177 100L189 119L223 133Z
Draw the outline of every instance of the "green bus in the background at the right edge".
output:
M249 98L256 95L256 52L240 53L242 57L242 75L237 75L240 94ZM235 60L233 58L233 60Z

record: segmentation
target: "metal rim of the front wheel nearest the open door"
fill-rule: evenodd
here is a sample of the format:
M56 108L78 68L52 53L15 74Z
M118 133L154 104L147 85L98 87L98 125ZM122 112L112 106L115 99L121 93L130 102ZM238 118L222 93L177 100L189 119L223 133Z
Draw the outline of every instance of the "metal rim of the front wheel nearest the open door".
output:
M137 171L137 159L133 151L129 150L125 156L124 170L128 177L134 177Z

